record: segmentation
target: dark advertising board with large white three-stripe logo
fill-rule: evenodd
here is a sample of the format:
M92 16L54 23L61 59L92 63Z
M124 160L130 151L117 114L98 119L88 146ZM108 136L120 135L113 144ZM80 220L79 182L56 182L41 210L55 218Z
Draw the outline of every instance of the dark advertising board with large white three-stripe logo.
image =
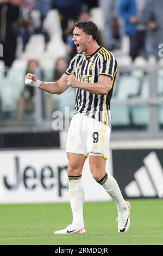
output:
M163 149L113 151L114 176L124 197L163 198L162 153Z

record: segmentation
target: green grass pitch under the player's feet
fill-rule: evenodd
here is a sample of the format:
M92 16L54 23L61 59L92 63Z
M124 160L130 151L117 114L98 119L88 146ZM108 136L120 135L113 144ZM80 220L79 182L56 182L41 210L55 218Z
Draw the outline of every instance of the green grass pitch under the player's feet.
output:
M0 205L0 245L163 245L162 199L130 200L131 224L117 232L114 202L84 204L86 234L54 235L71 223L69 203Z

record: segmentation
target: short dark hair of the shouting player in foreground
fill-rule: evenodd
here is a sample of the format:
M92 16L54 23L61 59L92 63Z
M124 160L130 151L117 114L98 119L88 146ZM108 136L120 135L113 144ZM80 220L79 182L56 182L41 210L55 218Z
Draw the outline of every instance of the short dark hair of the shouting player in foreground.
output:
M98 37L98 28L93 21L78 21L74 27L80 28L87 35L92 35L94 40Z

